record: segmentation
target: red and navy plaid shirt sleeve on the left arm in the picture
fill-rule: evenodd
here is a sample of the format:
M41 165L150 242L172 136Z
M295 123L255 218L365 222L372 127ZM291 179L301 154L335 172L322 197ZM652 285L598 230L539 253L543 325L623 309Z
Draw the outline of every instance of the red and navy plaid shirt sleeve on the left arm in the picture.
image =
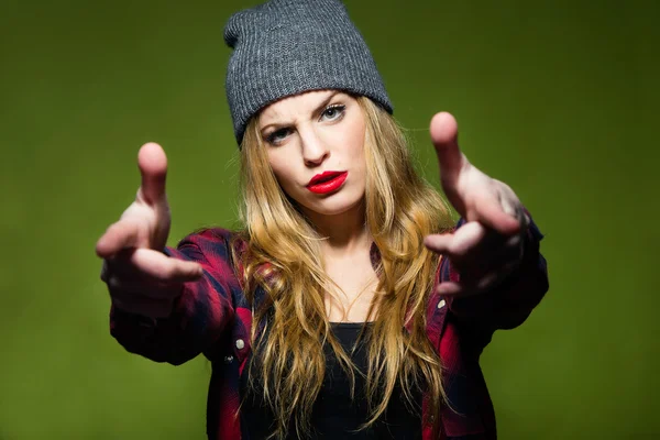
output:
M232 292L239 288L231 266L229 231L209 229L190 234L172 257L194 261L204 276L184 284L173 312L167 318L148 318L112 307L110 333L129 352L156 362L182 364L210 350L227 323L233 319Z

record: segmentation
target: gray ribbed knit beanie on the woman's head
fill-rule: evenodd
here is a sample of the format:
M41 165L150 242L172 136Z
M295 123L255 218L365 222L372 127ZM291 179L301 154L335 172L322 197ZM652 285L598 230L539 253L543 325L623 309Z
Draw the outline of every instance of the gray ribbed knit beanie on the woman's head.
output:
M227 99L239 145L250 118L309 90L363 95L392 113L376 64L340 0L271 0L232 15Z

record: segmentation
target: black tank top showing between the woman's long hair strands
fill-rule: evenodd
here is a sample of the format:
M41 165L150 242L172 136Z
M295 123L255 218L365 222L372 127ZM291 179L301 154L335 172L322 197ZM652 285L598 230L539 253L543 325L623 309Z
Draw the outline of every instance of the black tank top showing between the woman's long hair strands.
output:
M351 355L353 345L358 340L364 323L362 322L333 322L332 331L346 353ZM371 324L366 323L365 331ZM366 372L367 358L364 338L360 341L351 360L363 372ZM387 406L386 414L369 429L358 431L360 425L367 420L367 405L364 398L364 377L355 374L355 398L351 399L350 377L339 365L334 352L327 344L326 377L314 405L311 414L311 439L421 439L421 392L415 391L416 408L410 410L404 402L400 388L395 388ZM250 366L241 377L241 395L248 393L241 408L241 422L243 432L250 440L263 440L273 430L273 414L265 406L260 394L248 386ZM256 370L254 370L256 372ZM256 389L260 389L261 380L255 377ZM293 427L292 427L293 428ZM287 440L298 440L294 429L289 429Z

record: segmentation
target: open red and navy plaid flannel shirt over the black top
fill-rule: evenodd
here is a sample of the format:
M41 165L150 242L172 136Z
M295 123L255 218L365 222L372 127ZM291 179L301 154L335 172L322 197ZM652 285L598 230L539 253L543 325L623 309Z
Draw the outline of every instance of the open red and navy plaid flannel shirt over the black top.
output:
M441 439L496 439L495 414L479 358L495 330L520 324L548 290L541 239L532 222L519 270L494 292L464 298L431 295L427 333L442 360L452 407L433 415L441 419ZM240 375L251 353L252 312L235 276L231 242L232 232L208 229L186 237L177 249L167 248L165 252L173 257L200 263L205 276L184 286L168 318L151 319L112 308L110 331L129 352L156 362L178 365L204 353L212 363L209 439L249 440L234 414L241 398ZM447 279L458 280L459 274L442 258L436 283ZM431 439L430 427L425 427L422 438Z

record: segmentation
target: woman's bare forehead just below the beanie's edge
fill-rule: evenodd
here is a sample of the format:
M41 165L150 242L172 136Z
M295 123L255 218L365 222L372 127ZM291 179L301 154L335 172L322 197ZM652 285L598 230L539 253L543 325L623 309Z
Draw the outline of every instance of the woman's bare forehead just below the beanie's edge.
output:
M300 95L286 97L266 106L260 113L260 125L266 125L280 120L292 120L308 117L323 102L332 97L346 96L339 90L312 90Z

